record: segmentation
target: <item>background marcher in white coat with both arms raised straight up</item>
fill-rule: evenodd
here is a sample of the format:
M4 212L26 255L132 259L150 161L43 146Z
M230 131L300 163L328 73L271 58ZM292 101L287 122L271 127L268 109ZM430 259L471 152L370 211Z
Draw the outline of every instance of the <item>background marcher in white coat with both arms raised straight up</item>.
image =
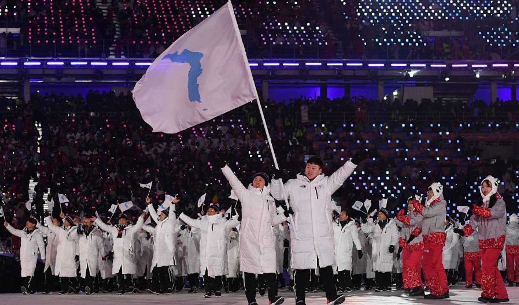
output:
M173 203L177 203L180 200L174 199ZM175 216L175 204L171 204L168 210L162 210L160 216L157 215L151 200L146 198L148 203L149 215L155 221L153 232L154 244L153 244L153 258L152 258L152 272L156 268L159 282L158 294L162 295L167 293L168 287L171 287L169 278L169 266L176 266L175 261L175 226L177 224Z

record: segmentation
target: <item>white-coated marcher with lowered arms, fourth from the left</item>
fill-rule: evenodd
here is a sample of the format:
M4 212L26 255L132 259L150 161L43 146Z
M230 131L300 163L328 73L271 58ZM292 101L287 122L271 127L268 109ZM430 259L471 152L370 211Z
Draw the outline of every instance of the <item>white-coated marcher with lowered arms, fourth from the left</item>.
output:
M90 217L83 218L83 225L69 234L69 239L79 245L79 270L81 278L85 279L85 293L91 294L94 278L99 272L99 257L105 256L104 239L101 230L93 226Z

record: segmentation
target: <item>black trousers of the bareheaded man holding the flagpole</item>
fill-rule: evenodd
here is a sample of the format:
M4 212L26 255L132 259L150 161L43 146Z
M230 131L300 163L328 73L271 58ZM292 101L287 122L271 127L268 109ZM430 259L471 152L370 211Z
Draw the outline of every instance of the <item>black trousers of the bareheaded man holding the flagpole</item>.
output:
M310 280L311 269L294 270L294 292L297 301L305 300L306 284ZM335 288L335 277L333 276L332 266L319 268L319 274L322 279L323 287L326 292L326 299L333 301L337 298L337 289Z

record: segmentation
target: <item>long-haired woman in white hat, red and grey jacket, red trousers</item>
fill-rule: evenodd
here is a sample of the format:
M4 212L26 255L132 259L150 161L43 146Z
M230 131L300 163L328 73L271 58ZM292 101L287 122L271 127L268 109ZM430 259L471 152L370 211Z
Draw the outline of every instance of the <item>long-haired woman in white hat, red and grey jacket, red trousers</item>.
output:
M469 236L477 228L482 260L482 291L477 300L484 303L509 301L503 278L497 269L497 260L504 247L507 223L506 204L497 193L498 185L499 181L493 176L483 180L480 189L482 199L474 204L469 224L463 230L456 229L456 233Z

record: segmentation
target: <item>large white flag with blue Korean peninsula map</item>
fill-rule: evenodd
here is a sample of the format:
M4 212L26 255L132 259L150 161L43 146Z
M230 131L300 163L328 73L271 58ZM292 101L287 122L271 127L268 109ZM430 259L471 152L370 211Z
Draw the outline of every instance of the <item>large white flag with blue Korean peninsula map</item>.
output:
M175 133L257 98L230 1L148 67L133 100L154 132Z

